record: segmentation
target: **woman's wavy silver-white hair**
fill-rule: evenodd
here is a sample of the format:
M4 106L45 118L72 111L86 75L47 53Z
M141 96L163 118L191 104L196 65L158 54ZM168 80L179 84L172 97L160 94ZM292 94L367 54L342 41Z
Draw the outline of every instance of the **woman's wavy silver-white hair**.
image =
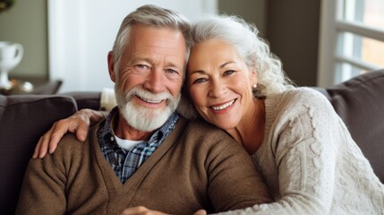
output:
M270 52L269 44L260 38L254 24L235 15L209 15L192 25L192 47L209 39L221 39L235 46L250 70L256 71L258 84L252 89L256 98L294 88L294 83L282 69L281 61ZM187 118L195 118L185 87L178 110Z

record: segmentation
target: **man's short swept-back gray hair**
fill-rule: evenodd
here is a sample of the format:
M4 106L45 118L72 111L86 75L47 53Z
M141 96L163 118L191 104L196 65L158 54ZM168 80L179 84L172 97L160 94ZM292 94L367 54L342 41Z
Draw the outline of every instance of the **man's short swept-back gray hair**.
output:
M188 60L191 51L191 23L181 13L148 4L137 8L134 12L129 13L124 18L124 21L117 32L114 47L112 48L115 65L118 65L119 63L120 56L122 56L124 47L128 42L131 26L134 24L142 24L157 28L167 27L180 30L183 33L183 38L185 39L185 62Z

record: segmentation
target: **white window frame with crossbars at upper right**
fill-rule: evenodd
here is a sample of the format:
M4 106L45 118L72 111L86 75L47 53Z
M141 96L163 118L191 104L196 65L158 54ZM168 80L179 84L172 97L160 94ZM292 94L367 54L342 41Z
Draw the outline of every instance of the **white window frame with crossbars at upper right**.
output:
M320 7L320 43L317 85L329 87L337 83L337 62L351 64L363 70L371 71L379 66L368 64L351 57L337 55L337 32L349 31L359 36L384 42L384 30L373 28L356 22L346 22L341 19L341 0L321 0Z

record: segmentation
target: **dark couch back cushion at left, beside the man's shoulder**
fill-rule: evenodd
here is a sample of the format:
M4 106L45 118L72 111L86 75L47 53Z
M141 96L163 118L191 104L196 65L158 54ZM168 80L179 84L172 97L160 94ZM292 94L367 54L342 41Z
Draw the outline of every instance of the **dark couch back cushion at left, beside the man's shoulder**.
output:
M77 110L69 96L0 95L0 214L13 214L39 137Z

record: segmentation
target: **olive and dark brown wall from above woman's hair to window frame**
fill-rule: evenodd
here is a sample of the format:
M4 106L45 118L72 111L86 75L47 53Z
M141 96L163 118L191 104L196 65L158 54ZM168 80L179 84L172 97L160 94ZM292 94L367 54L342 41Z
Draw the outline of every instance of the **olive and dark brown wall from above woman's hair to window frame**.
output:
M297 85L316 85L320 0L220 0L218 7L254 22Z

